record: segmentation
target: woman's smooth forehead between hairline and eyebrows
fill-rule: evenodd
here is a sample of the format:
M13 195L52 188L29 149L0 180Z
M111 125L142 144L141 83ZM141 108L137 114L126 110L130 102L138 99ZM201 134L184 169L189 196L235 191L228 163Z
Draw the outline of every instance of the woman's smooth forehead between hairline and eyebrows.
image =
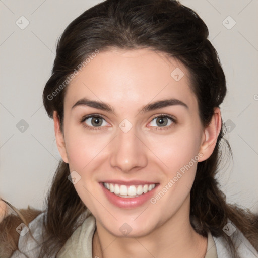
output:
M189 72L178 60L150 49L99 52L71 81L64 98L70 108L83 97L112 106L139 106L175 98L197 107Z

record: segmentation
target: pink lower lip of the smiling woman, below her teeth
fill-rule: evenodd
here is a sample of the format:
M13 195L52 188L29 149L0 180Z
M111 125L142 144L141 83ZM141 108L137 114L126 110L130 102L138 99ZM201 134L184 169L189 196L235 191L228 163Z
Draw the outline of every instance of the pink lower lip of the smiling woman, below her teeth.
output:
M153 196L154 191L158 186L153 188L151 191L148 191L146 193L143 193L139 197L134 197L134 198L122 198L119 196L116 196L114 193L110 192L103 183L100 182L100 185L107 197L107 199L115 206L120 207L120 208L136 208L141 205L143 205L145 202L151 199Z

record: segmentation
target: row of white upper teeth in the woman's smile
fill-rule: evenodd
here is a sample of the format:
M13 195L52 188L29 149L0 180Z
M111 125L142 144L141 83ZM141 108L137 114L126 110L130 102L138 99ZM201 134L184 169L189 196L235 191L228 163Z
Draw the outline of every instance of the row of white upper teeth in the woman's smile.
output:
M137 197L139 195L142 195L143 193L151 191L155 187L155 184L126 186L126 185L118 185L118 184L112 184L112 183L104 183L104 186L110 192L115 193L115 195L118 195L124 198L130 198L130 196Z

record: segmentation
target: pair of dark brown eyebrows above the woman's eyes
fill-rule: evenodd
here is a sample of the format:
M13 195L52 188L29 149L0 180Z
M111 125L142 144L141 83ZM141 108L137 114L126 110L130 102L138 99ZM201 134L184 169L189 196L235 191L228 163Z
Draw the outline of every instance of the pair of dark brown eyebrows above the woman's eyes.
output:
M140 113L147 113L149 111L153 111L163 107L175 106L175 105L183 106L189 110L189 107L184 102L182 102L181 100L172 98L172 99L159 100L153 103L149 103L141 109ZM101 101L90 100L87 98L82 98L78 100L72 106L72 109L75 108L76 106L89 106L89 107L93 107L96 109L100 109L100 110L115 114L114 109L109 104Z

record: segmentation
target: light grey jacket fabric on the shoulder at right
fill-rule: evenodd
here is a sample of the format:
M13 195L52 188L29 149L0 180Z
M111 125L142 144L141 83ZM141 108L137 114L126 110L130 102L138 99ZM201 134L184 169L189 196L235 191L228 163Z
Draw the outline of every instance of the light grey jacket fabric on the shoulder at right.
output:
M232 239L240 258L258 258L258 252L232 222L229 222L224 227L224 232ZM216 244L218 258L230 258L231 255L225 239L222 236L213 236L213 239Z

